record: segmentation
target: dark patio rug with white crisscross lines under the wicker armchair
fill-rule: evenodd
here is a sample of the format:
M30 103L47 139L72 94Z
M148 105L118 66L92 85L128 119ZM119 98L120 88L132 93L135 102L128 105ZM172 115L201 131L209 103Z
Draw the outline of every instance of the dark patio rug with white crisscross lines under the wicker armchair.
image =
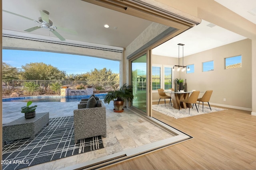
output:
M19 139L3 145L1 163L3 170L18 170L101 148L104 148L101 136L75 144L74 117L57 117L50 119L35 139Z

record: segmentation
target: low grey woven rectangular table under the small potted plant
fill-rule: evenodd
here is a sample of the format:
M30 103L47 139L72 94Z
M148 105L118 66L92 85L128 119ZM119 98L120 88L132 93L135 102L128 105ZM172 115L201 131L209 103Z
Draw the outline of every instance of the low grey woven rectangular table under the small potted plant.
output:
M49 124L49 112L36 113L36 117L25 119L20 117L3 125L3 145L6 141L28 138L34 139L36 133Z

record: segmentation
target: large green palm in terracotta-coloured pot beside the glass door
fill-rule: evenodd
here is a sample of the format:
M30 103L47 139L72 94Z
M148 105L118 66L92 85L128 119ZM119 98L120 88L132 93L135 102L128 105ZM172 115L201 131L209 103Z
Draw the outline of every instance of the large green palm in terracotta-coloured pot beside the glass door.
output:
M126 86L124 84L119 90L108 92L104 98L104 103L110 103L114 101L114 112L124 111L124 100L131 101L134 98L132 94L132 86Z

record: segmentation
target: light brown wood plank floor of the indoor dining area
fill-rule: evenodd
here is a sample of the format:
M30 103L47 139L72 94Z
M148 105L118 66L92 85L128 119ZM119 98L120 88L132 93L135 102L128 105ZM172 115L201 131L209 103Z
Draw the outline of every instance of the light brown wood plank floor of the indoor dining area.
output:
M194 138L104 170L256 170L256 116L250 111L226 108L182 119L153 115Z

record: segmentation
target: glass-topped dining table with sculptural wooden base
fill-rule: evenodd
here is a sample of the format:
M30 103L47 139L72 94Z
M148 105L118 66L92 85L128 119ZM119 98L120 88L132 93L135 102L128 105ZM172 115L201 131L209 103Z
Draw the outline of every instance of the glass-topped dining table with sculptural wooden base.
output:
M174 107L175 109L179 109L180 108L180 100L183 100L183 99L187 99L189 94L192 93L193 91L191 92L174 92L174 91L171 91L171 90L166 90L164 91L164 93L169 93L171 98L172 98L172 107ZM181 108L192 108L192 105L191 104L186 104L186 103L181 103Z

